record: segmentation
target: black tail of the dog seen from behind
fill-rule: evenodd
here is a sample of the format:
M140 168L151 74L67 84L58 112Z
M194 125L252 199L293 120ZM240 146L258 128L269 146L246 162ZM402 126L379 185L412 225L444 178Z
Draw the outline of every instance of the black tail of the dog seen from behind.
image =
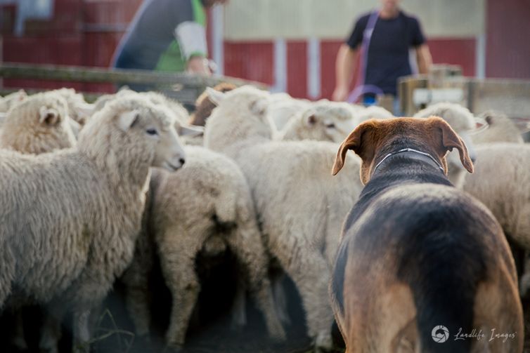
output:
M462 234L429 234L416 248L413 289L417 308L417 325L422 352L470 352L477 338L461 334L473 331L474 298L484 275L484 261L477 248L461 246ZM433 240L434 239L434 240ZM421 244L422 243L422 244ZM478 246L479 248L480 246ZM422 254L418 258L417 254ZM411 253L410 255L413 255ZM414 256L412 257L414 258ZM409 258L411 259L411 258ZM410 267L409 267L410 270Z

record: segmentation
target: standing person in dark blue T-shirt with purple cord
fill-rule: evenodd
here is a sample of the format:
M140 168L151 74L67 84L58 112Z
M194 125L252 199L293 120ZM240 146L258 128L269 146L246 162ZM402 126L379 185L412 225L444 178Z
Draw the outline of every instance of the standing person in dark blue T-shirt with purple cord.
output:
M400 0L381 0L382 7L356 20L354 29L337 53L336 84L332 99L346 100L354 76L356 61L361 59L363 102L374 101L376 94L396 96L397 79L412 74L409 50L415 49L418 70L428 72L432 64L429 47L418 19L403 13Z

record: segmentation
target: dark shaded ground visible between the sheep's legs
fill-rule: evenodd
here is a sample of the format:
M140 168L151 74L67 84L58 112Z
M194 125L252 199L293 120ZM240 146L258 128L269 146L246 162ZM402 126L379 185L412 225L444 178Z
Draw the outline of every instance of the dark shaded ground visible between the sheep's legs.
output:
M306 353L312 352L311 340L305 335L306 326L299 295L292 281L285 279L287 288L287 305L292 320L287 327L287 341L282 344L271 342L266 335L266 328L261 314L247 303L248 324L243 331L235 332L230 325L231 298L233 284L230 260L227 267L220 267L209 274L202 282L198 312L188 329L186 346L180 353ZM134 326L124 306L123 288L117 284L110 293L103 311L99 314L98 328L92 345L93 353L170 353L164 345L164 332L169 324L171 295L164 286L160 271L155 270L150 284L153 294L153 325L150 340L142 340L134 335ZM530 353L530 298L523 300L525 317L524 352ZM38 352L37 328L41 314L37 308L25 310L25 331L30 349L24 351ZM19 353L8 345L8 338L13 333L13 320L4 315L0 321L0 352ZM60 353L70 352L72 347L69 320L65 320L63 338L60 341ZM331 353L344 352L342 339L337 329L334 330L336 348Z

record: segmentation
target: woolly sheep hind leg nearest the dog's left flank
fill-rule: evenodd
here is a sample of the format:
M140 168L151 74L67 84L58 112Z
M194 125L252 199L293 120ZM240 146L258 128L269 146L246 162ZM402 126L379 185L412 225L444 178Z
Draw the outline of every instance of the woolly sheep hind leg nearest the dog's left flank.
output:
M330 269L327 262L316 248L302 246L300 241L290 251L283 249L283 254L287 256L278 256L278 260L302 297L309 337L315 340L317 350L329 350L332 347L333 313L328 298Z

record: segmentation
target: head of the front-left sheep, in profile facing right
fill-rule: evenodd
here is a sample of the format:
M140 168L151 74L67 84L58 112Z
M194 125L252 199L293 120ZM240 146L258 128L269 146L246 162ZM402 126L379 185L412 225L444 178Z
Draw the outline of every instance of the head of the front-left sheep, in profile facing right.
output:
M96 159L109 151L117 164L126 159L131 164L147 163L176 171L186 156L174 128L175 120L167 107L155 106L141 95L116 98L83 128L79 149Z

